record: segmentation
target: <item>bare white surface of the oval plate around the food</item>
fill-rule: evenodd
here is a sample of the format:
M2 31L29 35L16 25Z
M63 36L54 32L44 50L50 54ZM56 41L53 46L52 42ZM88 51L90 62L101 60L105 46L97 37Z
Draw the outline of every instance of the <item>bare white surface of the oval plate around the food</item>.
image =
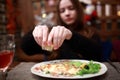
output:
M38 76L41 76L41 77L46 77L46 78L54 78L54 79L86 79L86 78L91 78L91 77L96 77L96 76L100 76L100 75L103 75L106 71L107 71L107 67L105 64L103 63L100 63L100 62L96 62L94 61L94 63L98 63L101 65L101 69L98 73L95 73L95 74L85 74L83 76L80 76L80 75L77 75L77 76L69 76L69 77L66 77L66 76L52 76L50 74L45 74L43 73L41 70L36 70L35 68L36 67L39 67L40 65L44 65L44 64L50 64L50 63L54 63L54 62L60 62L60 61L64 61L64 60L53 60L53 61L46 61L46 62L41 62L41 63L37 63L35 64L32 68L31 68L31 72L35 75L38 75ZM89 62L87 60L70 60L70 61L80 61L80 62Z

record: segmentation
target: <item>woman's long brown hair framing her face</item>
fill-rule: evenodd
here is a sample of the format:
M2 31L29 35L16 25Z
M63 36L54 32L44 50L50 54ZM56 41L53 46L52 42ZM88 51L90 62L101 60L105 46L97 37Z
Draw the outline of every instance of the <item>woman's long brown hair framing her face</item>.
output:
M60 1L58 1L58 4L57 4L57 24L58 25L62 25L62 26L65 26L65 27L68 27L69 29L71 30L75 30L75 31L80 31L83 29L83 18L84 18L84 12L83 12L83 7L82 5L80 4L79 0L70 0L71 3L73 4L76 12L77 12L77 19L75 21L74 24L72 24L71 26L67 25L66 23L64 23L60 17L60 10L59 10L59 7L60 7Z

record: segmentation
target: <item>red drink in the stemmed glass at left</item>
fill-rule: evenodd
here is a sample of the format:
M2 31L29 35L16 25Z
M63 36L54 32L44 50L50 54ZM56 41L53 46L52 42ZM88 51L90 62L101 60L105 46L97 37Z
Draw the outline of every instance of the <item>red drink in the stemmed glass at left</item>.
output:
M0 52L0 68L6 68L8 67L13 59L13 52L12 51L1 51Z

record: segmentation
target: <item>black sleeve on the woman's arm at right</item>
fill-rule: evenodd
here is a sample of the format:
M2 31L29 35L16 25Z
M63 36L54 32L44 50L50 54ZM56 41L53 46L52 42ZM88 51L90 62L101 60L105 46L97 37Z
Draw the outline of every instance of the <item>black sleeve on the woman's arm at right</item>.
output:
M102 46L100 43L76 32L73 32L73 35L68 42L74 50L79 51L86 58L95 60L101 59Z

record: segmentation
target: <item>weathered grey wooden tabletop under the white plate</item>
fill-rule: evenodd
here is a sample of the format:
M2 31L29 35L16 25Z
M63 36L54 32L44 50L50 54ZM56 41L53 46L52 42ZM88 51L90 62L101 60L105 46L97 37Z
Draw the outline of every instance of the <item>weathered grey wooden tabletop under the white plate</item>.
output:
M105 74L84 80L120 80L120 73L118 73L109 63L103 63L108 68L108 71ZM35 64L35 62L21 62L19 65L8 72L6 80L55 80L42 78L40 76L32 74L30 72L30 69ZM117 67L120 67L119 62L113 62L113 64L115 64Z

